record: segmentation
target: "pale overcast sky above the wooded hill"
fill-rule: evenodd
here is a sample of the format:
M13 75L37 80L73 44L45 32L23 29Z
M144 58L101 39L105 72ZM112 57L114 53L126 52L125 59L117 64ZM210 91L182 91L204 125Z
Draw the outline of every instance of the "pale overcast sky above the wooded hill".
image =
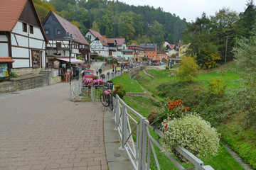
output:
M247 0L118 0L134 6L154 6L163 8L163 11L175 13L187 22L196 21L203 12L206 16L215 16L215 12L221 8L230 8L238 13L244 12Z

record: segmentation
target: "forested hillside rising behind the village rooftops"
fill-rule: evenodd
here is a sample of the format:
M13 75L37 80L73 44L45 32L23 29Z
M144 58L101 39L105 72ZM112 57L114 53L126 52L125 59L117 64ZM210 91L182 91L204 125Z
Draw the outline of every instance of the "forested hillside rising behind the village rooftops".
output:
M33 1L42 21L53 10L73 21L82 33L93 28L107 38L126 38L128 45L132 42L155 42L161 47L164 40L177 43L186 29L185 18L164 12L162 8L130 6L107 0Z

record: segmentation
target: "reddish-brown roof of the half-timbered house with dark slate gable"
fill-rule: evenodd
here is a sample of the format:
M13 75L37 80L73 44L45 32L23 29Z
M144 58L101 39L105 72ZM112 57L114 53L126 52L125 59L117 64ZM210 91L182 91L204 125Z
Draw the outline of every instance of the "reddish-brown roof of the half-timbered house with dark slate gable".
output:
M70 23L65 18L62 18L61 16L59 16L57 13L53 11L50 11L48 13L43 23L47 20L50 13L53 13L53 16L55 16L55 18L58 20L58 22L66 32L68 32L69 34L72 34L75 42L80 42L81 44L89 45L89 43L87 42L87 40L85 40L84 36L82 35L82 33L80 32L77 26L75 26L73 23Z

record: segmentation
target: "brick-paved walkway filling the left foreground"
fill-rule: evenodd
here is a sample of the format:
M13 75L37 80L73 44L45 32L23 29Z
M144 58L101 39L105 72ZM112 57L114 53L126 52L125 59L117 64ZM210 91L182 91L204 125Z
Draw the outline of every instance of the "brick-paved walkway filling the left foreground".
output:
M0 94L0 169L108 169L101 103L68 101L68 84Z

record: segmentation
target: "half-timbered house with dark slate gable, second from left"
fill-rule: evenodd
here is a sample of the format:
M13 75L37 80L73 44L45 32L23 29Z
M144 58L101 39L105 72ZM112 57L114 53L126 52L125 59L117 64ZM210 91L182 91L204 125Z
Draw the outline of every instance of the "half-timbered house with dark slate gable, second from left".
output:
M50 11L43 21L43 28L49 41L46 47L49 67L56 61L68 63L69 57L71 64L89 61L90 45L73 23Z

